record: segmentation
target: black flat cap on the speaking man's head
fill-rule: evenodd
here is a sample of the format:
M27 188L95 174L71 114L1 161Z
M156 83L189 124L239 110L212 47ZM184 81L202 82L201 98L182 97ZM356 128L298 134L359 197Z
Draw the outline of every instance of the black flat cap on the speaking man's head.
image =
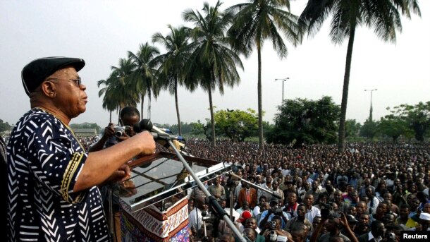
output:
M21 72L25 93L30 95L49 75L66 66L73 66L76 71L80 71L85 66L85 61L61 56L44 57L31 61L24 66Z

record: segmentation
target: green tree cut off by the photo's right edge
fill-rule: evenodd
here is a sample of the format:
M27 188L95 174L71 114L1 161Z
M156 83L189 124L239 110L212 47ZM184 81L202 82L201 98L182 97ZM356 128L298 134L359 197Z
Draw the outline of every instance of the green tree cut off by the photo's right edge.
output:
M424 141L424 134L430 128L430 101L419 102L416 105L401 104L391 111L393 115L401 117L414 131L415 138Z

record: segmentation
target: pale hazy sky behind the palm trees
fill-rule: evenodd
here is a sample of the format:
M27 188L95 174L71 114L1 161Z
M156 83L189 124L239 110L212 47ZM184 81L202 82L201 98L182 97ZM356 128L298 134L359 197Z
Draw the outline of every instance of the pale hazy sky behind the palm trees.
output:
M246 0L225 0L222 8ZM207 1L211 6L216 1ZM291 12L300 15L307 1L290 1ZM430 1L419 2L422 17L402 18L403 31L395 43L379 40L373 30L358 28L352 52L352 68L348 95L347 119L363 123L369 116L370 92L373 92L373 117L389 114L387 107L417 104L430 100ZM102 109L97 81L106 79L111 66L127 52L137 52L139 44L152 43L155 32L168 34L167 25L185 25L183 11L201 11L203 1L6 1L0 0L0 119L11 125L30 109L20 79L22 68L43 56L69 56L85 60L79 72L87 86L87 111L70 123L109 123L109 112ZM280 59L271 42L262 49L262 98L264 121L273 123L282 101L282 80L285 99L320 99L331 96L340 105L345 73L348 40L335 45L328 37L329 20L312 38L293 47L286 42L288 56ZM159 47L160 52L165 49ZM257 53L245 59L240 70L240 84L225 89L224 95L213 94L216 110L248 108L257 110ZM204 121L210 117L206 92L178 92L180 117L183 122ZM147 98L142 118L147 118ZM140 105L138 106L140 109ZM151 120L154 123L176 123L173 95L163 91L152 99ZM113 120L117 119L113 115Z

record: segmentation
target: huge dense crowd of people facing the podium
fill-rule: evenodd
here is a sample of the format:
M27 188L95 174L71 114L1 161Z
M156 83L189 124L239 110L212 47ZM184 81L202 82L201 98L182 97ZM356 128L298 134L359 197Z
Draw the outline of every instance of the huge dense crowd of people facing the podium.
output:
M335 145L266 145L259 152L256 143L227 140L213 148L192 139L187 147L196 157L228 162L242 178L233 187L224 176L206 186L226 210L233 201L233 220L252 241L274 234L296 242L399 241L400 231L430 230L428 143L348 143L343 153ZM226 224L201 215L211 210L199 188L189 204L198 240L228 238Z

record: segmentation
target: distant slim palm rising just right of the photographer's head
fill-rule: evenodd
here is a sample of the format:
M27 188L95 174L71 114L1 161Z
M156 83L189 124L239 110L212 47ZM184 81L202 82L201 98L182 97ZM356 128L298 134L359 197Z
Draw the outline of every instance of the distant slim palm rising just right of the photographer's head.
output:
M140 104L140 115L143 116L143 100L145 94L148 95L148 119L151 119L151 97L155 98L159 95L159 88L155 85L155 72L156 66L159 65L155 61L155 57L160 54L159 50L147 42L140 44L139 50L136 54L128 52L128 58L133 61L134 71L131 75L132 83L134 83L134 90L140 95L142 100Z

